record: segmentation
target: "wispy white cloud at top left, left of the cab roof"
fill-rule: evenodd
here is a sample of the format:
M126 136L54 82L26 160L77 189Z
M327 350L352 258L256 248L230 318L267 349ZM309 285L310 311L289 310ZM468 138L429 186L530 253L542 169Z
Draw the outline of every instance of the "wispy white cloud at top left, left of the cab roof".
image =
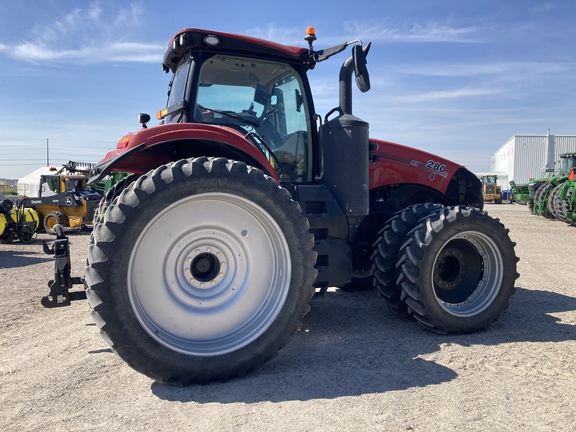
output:
M163 44L129 41L141 13L139 3L115 7L95 1L36 24L31 38L12 47L0 44L0 53L31 63L159 62Z

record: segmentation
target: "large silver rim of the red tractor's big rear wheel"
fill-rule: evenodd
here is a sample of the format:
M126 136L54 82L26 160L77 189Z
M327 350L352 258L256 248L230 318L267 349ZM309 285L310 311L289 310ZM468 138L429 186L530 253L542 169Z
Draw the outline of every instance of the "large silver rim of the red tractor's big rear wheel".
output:
M146 225L130 256L128 293L138 321L160 344L222 355L274 322L290 264L286 239L266 210L236 195L204 193Z

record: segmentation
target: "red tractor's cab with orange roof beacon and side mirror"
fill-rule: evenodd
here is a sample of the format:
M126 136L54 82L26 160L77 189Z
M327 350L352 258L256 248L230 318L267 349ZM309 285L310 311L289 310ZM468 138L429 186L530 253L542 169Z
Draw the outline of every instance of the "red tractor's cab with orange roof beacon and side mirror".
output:
M314 113L306 72L343 51L348 42L314 51L314 28L307 29L309 49L262 43L249 37L185 29L166 49L163 67L174 73L161 124L197 123L231 128L262 153L282 183L310 183L322 175L317 157L318 116ZM369 87L365 51L353 50L341 97L334 111L351 114L350 75ZM341 74L342 75L342 74ZM342 78L342 77L341 77ZM149 118L145 116L145 118Z

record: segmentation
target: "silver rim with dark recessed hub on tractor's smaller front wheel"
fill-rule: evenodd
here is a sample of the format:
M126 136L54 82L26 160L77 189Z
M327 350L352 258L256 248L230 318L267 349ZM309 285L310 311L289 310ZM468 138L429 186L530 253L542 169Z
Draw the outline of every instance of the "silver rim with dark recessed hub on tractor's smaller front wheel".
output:
M497 244L485 234L465 231L450 238L434 261L432 286L440 306L471 317L486 310L502 285L504 263Z

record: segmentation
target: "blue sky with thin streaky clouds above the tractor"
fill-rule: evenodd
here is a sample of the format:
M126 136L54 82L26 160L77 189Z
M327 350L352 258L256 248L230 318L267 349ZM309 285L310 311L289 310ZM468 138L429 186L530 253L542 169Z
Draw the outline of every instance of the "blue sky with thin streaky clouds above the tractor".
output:
M139 112L154 118L164 47L181 28L306 46L307 26L317 49L372 41L372 90L353 99L374 138L478 172L514 134L576 135L572 0L3 0L0 178L45 166L47 140L52 166L97 162L139 128ZM345 57L311 71L321 115L338 104Z

